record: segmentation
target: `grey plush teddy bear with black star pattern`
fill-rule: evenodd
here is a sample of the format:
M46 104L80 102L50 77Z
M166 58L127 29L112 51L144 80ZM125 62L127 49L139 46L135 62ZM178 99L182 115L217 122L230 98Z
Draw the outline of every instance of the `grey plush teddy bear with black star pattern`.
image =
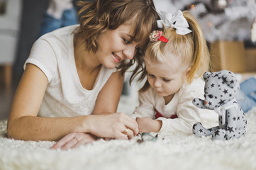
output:
M198 108L210 109L218 113L218 126L206 129L201 123L193 125L197 137L212 135L213 140L230 140L245 134L247 124L245 113L238 105L235 95L239 91L239 81L228 70L205 72L204 97L195 98L193 104Z

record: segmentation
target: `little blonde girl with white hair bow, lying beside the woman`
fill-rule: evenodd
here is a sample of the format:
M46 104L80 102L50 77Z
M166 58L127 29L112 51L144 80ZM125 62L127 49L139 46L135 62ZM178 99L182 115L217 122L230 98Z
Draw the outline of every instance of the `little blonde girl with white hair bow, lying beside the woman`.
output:
M184 16L183 16L184 15ZM145 52L145 75L140 89L138 117L140 132L192 133L194 123L218 125L213 111L196 108L192 100L204 96L201 75L208 70L209 52L199 23L189 11L162 13L161 30L150 34Z

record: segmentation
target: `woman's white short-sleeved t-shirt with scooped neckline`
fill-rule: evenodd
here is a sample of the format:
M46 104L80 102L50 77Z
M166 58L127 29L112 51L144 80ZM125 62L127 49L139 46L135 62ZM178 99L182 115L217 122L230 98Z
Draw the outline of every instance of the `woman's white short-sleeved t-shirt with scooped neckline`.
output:
M116 69L101 66L92 90L84 89L79 81L74 61L74 34L78 25L57 29L40 37L33 45L24 64L35 64L48 78L43 103L38 113L42 117L90 115L96 98Z

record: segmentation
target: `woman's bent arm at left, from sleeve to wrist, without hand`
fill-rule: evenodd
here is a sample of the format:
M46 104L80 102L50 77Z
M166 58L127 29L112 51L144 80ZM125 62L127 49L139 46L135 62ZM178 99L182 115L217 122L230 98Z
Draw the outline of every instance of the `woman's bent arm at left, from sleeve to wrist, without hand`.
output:
M86 131L82 127L87 118L37 117L48 79L33 64L26 70L16 90L9 115L7 134L18 140L59 140L69 132Z

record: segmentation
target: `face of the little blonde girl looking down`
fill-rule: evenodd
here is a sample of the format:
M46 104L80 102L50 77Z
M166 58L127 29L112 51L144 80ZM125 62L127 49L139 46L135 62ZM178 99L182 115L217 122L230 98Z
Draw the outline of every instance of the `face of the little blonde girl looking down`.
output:
M148 62L147 55L145 57L148 82L157 94L171 97L179 91L187 75L187 69L184 69L182 60L174 60L173 57L169 57L167 63L152 63Z

